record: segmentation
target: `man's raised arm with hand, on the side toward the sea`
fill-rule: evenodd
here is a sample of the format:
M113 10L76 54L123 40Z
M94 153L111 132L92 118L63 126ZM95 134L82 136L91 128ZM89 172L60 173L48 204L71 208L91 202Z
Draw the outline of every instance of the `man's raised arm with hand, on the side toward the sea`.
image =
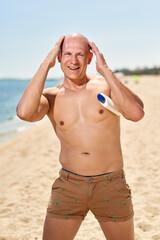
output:
M28 122L41 120L49 111L48 99L43 96L43 88L50 68L54 67L62 36L40 65L38 71L25 89L17 106L17 116Z

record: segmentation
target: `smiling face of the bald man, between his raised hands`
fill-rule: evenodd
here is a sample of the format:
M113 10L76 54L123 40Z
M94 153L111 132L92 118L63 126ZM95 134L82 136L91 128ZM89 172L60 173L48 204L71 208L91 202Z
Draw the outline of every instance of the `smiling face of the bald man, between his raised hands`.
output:
M62 46L61 56L61 68L65 77L70 80L85 77L90 57L91 53L86 39L83 37L66 38Z

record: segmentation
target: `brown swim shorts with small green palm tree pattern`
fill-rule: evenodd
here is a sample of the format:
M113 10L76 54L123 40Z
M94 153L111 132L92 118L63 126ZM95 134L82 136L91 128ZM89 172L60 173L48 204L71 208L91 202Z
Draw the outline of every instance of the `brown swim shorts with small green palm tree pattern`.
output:
M83 220L90 210L98 221L125 221L134 215L131 198L123 170L81 176L61 169L52 185L47 216Z

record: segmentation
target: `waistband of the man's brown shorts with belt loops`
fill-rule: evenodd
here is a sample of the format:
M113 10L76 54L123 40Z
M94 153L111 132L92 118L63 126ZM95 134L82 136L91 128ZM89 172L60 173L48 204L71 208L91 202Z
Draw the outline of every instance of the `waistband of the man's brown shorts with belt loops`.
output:
M112 181L113 179L116 178L125 178L125 173L123 169L117 170L117 171L113 171L113 172L108 172L108 173L103 173L103 174L99 174L99 175L91 175L91 176L83 176L83 175L79 175L76 173L73 173L71 171L68 171L64 168L60 169L59 172L60 176L64 177L64 178L68 178L68 179L75 179L75 180L79 180L79 181L86 181L86 182L99 182L99 181L103 181L103 180L109 180Z

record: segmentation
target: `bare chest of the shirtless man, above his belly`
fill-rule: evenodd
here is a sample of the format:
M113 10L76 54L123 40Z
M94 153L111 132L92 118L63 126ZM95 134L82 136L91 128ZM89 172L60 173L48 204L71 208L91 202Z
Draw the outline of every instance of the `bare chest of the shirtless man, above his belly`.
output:
M68 130L76 124L95 123L109 117L110 113L97 99L99 92L100 90L63 92L57 95L54 105L54 120L57 127Z

